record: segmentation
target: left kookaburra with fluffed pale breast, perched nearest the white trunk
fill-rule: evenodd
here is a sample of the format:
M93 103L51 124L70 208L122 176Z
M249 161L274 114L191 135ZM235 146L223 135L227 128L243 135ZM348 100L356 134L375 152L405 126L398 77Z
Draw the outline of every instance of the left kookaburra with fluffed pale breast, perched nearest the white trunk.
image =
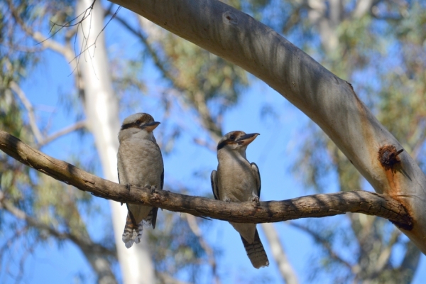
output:
M124 119L119 132L117 153L119 182L126 186L136 185L163 190L164 167L160 147L155 141L153 130L160 124L149 114L132 114ZM123 241L126 248L138 244L142 238L143 223L155 229L157 207L126 204L126 226Z

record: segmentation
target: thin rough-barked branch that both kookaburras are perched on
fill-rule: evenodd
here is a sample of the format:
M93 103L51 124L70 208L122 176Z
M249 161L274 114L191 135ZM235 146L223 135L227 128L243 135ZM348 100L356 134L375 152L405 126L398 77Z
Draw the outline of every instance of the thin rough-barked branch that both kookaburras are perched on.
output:
M329 195L309 195L291 200L223 202L205 197L180 195L165 190L119 185L98 178L62 160L31 148L11 134L0 131L0 149L35 170L50 175L92 195L117 202L146 204L197 217L210 217L239 223L280 222L307 217L327 217L358 212L389 219L403 229L411 229L412 219L402 204L386 195L352 191Z

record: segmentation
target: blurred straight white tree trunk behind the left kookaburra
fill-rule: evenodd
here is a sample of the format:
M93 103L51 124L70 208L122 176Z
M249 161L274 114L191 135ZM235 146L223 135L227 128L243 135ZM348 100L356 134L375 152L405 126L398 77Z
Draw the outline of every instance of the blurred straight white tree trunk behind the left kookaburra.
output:
M77 1L77 15L92 5L93 0ZM90 11L87 11L87 14ZM96 1L94 9L86 20L82 21L78 35L80 46L85 50L77 58L78 70L82 73L84 84L84 111L87 124L94 136L94 142L102 163L104 178L118 182L116 154L119 148L117 135L120 128L119 100L112 89L109 60L104 40L104 10L100 1ZM75 71L77 72L77 71ZM126 206L119 202L110 202L111 217L114 226L116 249L119 257L123 281L126 284L154 283L153 263L146 244L126 249L121 234L126 221ZM109 228L105 228L109 230Z

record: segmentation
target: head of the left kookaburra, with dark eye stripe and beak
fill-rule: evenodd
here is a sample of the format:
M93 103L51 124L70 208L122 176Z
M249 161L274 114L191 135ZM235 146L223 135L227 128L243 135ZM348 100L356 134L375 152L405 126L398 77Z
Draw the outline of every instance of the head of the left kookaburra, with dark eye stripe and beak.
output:
M133 135L141 136L155 142L153 130L160 124L153 116L145 113L132 114L124 119L119 132L119 141Z

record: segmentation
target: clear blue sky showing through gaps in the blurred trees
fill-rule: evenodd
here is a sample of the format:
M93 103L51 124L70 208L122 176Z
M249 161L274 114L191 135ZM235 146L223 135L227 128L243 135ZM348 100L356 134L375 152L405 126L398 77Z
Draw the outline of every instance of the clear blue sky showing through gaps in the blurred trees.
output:
M114 26L111 30L114 31ZM127 48L131 48L129 43ZM114 47L116 48L116 46ZM72 76L70 67L60 56L48 52L45 61L24 81L22 88L26 92L28 99L35 107L36 114L40 119L42 128L49 125L49 133L53 133L75 122L75 116L70 112L69 107L61 103L60 96L72 89ZM151 77L148 83L148 94L153 94L163 82L155 78L155 72L148 62L148 67L144 71L146 77ZM133 106L137 111L146 111L153 114L155 118L161 117L162 113L156 106L152 97L141 96L140 106ZM261 118L259 106L273 106L278 112L275 119ZM124 108L121 117L130 114ZM190 124L190 116L181 118L184 123ZM262 200L285 200L307 192L302 183L295 179L290 173L290 166L297 155L297 148L300 146L300 134L302 127L308 119L298 109L295 109L278 93L273 91L263 82L254 80L252 86L244 92L239 104L229 110L224 117L224 131L243 130L247 133L258 132L258 136L248 148L247 158L251 162L256 162L261 171L262 178ZM191 129L196 133L197 126ZM155 131L161 131L161 125ZM194 189L193 194L207 196L211 192L209 182L209 172L217 167L215 153L208 151L202 146L195 146L191 141L192 137L182 136L175 143L175 150L169 155L165 155L165 180L169 185L183 184ZM58 139L49 146L43 148L45 153L53 155L55 158L70 159L71 153L84 153L88 159L97 159L94 152L94 145L90 136L80 138L76 134L70 134ZM72 162L71 160L67 160ZM189 165L189 166L182 166ZM195 177L194 171L201 170L206 173ZM95 173L102 175L99 167ZM329 187L327 192L335 192L337 185L334 177L329 177ZM105 214L109 212L106 200L98 200L97 204L104 208ZM161 213L160 213L161 214ZM107 218L101 216L99 218ZM330 223L344 222L344 217L328 217ZM99 221L99 220L97 220ZM101 222L94 222L96 227ZM245 283L246 280L268 277L270 283L282 283L278 269L272 261L272 254L268 248L266 238L261 230L261 239L266 245L266 251L271 261L268 268L255 270L251 267L249 259L246 257L244 247L241 244L238 234L226 222L211 221L209 224L209 234L207 240L209 244L221 246L223 255L220 259L219 274L222 275L224 283ZM307 283L307 271L310 270L310 253L313 250L313 241L307 234L294 229L283 222L275 224L278 229L280 239L283 242L288 258L294 266L300 283ZM94 237L99 237L94 234ZM345 247L338 248L345 251ZM17 265L17 264L16 264ZM89 264L75 246L65 243L58 246L54 241L48 242L44 246L38 246L33 256L26 262L26 275L24 283L80 283L82 279L76 277L76 273L81 273L83 280L87 283L94 281L93 275L87 268ZM85 278L84 278L85 277ZM421 257L420 266L414 283L423 283L421 279L426 278L426 258ZM13 278L9 278L4 273L0 273L0 282L14 283ZM84 282L84 281L83 281Z

